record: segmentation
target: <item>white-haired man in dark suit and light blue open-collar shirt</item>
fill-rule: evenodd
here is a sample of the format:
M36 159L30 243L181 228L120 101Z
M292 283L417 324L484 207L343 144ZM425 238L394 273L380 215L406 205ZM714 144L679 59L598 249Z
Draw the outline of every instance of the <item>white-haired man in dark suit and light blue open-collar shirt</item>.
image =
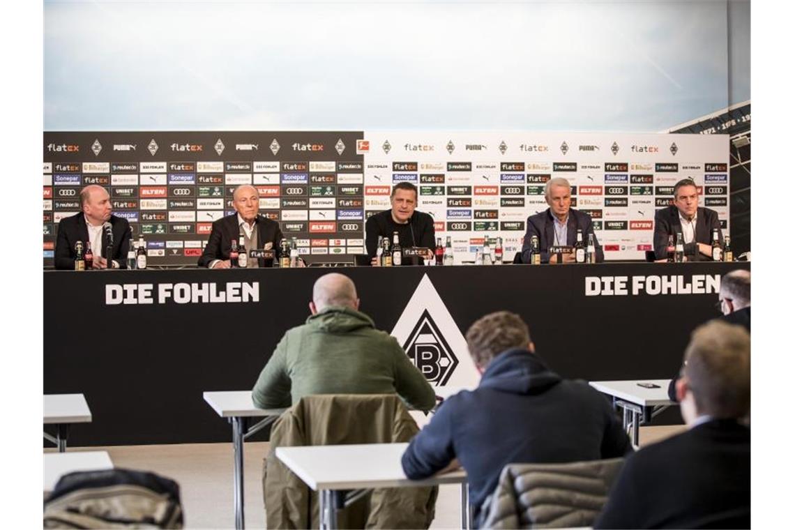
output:
M572 208L572 185L568 180L556 177L547 181L544 195L549 208L527 218L525 244L522 246L522 263L530 262L530 238L538 238L541 263L556 263L557 255L549 255L551 246L574 246L577 230L583 231L583 245L588 245L588 234L593 234L591 216ZM594 234L596 261L604 261L604 252ZM563 254L564 263L573 263L574 253Z

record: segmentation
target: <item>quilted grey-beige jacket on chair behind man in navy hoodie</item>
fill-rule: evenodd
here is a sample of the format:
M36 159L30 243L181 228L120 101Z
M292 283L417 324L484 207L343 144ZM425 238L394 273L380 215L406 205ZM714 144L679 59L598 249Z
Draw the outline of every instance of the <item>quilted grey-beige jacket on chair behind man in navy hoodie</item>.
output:
M592 526L623 458L556 464L508 464L483 505L483 528Z

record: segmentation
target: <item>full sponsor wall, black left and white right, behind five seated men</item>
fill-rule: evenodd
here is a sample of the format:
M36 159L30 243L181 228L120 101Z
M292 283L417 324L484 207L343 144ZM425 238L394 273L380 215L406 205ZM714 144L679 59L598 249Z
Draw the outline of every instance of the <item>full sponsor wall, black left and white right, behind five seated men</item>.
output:
M44 265L60 219L80 211L79 191L99 184L114 214L144 234L150 265L195 265L211 223L253 184L260 211L313 261L363 253L364 221L411 182L418 209L471 261L483 238L522 246L529 215L544 211L544 184L563 176L572 207L587 211L607 260L642 259L654 211L677 180L696 181L701 204L729 226L728 137L654 133L435 131L48 132L44 134Z

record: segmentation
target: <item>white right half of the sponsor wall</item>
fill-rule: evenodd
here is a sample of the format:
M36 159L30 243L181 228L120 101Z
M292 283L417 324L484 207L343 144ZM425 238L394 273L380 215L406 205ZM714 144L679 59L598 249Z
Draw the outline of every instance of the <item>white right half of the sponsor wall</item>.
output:
M528 216L547 208L545 182L558 176L574 187L572 207L591 215L607 260L652 250L654 211L687 177L729 234L725 135L365 131L357 154L365 215L389 207L394 184L416 184L417 209L433 216L437 237L452 238L458 262L474 260L485 235L502 237L510 260Z

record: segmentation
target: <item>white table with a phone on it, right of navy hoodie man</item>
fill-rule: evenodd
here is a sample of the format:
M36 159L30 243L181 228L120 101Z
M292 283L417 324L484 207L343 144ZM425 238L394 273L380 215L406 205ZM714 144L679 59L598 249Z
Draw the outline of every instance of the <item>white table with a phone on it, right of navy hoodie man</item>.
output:
M632 426L632 445L638 448L640 424L648 423L653 416L671 405L676 405L668 397L670 379L642 379L632 381L591 381L589 385L607 394L613 405L623 411L622 424L626 431ZM655 385L645 388L641 384Z

